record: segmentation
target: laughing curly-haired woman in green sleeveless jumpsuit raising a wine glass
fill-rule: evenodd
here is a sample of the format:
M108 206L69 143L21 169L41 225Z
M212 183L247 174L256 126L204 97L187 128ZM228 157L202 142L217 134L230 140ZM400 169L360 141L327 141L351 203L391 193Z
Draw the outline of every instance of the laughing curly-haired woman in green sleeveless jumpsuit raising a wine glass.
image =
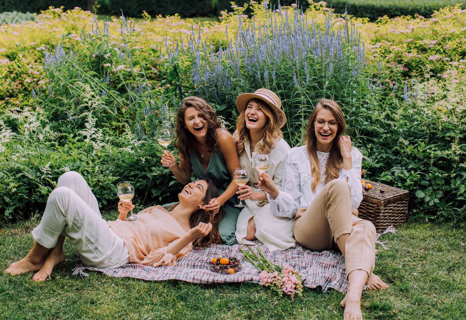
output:
M221 128L212 107L194 96L185 98L178 108L176 134L179 165L167 150L160 162L168 165L182 184L188 183L191 175L214 181L220 196L204 205L204 209L217 213L223 206L225 215L219 224L220 237L227 245L236 244L236 220L240 210L234 207L238 203L238 185L233 182L232 175L240 161L233 136Z

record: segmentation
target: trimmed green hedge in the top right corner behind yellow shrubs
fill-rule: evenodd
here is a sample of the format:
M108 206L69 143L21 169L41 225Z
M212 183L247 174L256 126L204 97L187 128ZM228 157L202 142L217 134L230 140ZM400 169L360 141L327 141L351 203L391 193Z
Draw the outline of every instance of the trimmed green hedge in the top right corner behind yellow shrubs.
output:
M367 17L374 21L385 14L389 18L415 14L430 18L433 10L454 6L457 3L463 3L464 8L465 2L461 0L327 0L327 7L334 8L339 14L343 14L347 8L349 14Z

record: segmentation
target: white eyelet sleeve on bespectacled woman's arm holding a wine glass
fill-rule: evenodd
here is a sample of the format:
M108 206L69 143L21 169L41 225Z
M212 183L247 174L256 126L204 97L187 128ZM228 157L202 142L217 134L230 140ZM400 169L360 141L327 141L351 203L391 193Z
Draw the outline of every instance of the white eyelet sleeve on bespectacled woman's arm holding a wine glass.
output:
M300 173L293 155L295 148L288 152L283 165L281 190L275 199L270 199L271 211L274 216L293 218L300 207L301 186Z

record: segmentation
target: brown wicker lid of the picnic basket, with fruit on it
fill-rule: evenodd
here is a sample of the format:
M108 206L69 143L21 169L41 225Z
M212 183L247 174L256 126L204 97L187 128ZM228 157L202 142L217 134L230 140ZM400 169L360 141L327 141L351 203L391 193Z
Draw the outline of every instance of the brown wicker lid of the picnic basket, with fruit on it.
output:
M369 189L369 191L363 189L364 202L385 206L409 197L409 191L375 181L366 180L366 184L367 183L372 185L372 189ZM381 193L380 189L383 189L384 193Z

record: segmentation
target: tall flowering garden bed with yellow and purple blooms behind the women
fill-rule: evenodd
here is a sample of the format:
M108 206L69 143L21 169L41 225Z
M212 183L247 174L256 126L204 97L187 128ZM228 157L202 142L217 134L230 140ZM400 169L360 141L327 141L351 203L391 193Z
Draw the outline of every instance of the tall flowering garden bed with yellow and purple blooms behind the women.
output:
M315 103L335 99L354 145L367 157L369 179L409 190L415 218L465 219L463 48L446 48L451 58L442 59L440 75L425 62L433 61L429 50L443 47L419 49L403 72L392 66L409 58L401 52L410 42L402 30L410 24L416 41L436 36L459 43L461 9L442 9L432 19L354 24L312 3L306 14L257 3L231 10L218 23L192 27L176 16L145 15L136 26L124 18L102 22L78 9L47 10L34 24L2 26L4 217L43 207L68 169L88 179L103 209L115 204L120 179L136 184L140 205L172 201L179 184L161 167L154 130L172 121L186 95L206 98L233 130L236 96L265 87L281 97L290 145L303 143ZM47 33L37 31L42 25ZM441 27L433 32L430 26ZM13 33L27 45L6 39Z

